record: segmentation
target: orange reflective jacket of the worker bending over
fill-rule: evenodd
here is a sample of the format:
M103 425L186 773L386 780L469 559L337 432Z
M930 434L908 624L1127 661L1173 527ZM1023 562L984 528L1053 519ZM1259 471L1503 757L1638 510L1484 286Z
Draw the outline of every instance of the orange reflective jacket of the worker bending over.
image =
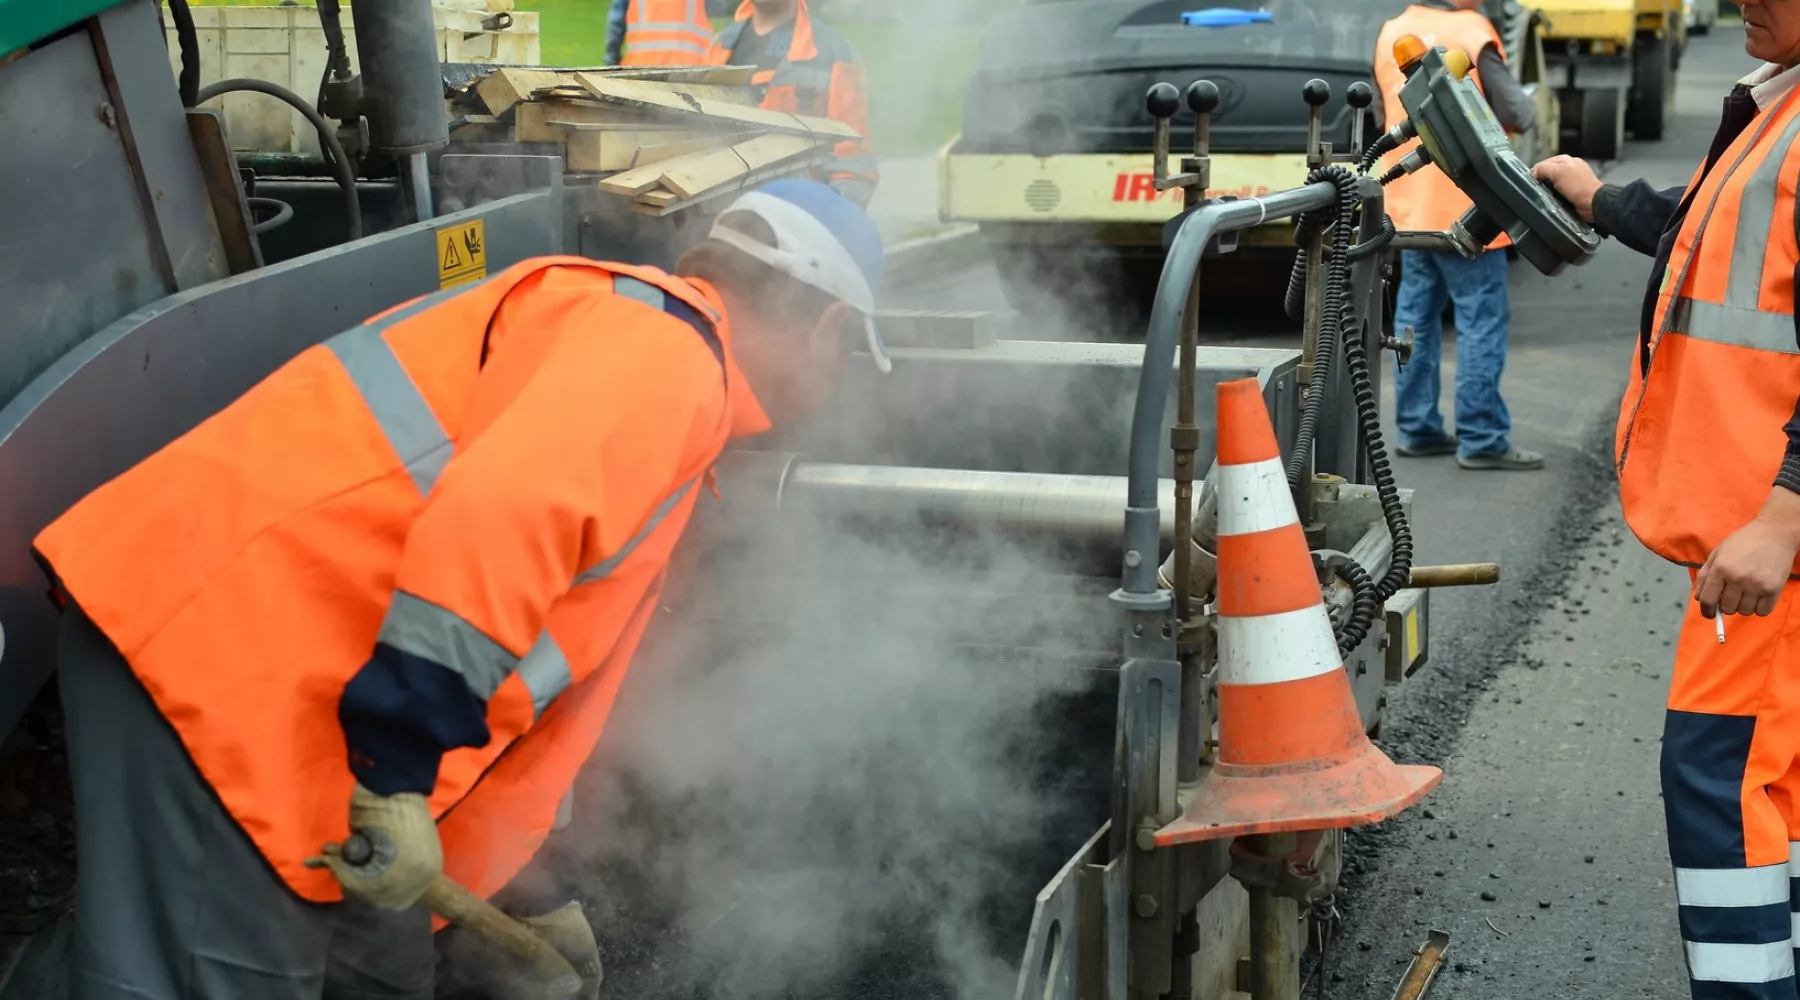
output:
M302 862L371 764L351 689L396 662L454 685L475 737L425 788L490 896L592 754L715 459L769 428L729 349L704 282L526 261L301 353L36 549L304 899L342 897ZM380 691L376 732L443 725Z

